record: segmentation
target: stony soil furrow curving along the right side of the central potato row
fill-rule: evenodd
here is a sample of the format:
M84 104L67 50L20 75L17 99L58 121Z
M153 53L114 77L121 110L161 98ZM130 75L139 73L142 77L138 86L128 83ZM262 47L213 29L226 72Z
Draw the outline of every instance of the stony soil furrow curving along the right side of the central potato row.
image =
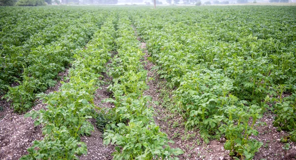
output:
M141 40L138 37L138 40ZM166 92L171 92L170 90L164 87L166 81L165 79L160 79L159 75L157 74L157 70L154 70L153 67L155 64L148 61L148 51L146 49L146 43L141 42L141 49L145 52L144 57L144 67L148 71L147 73L147 85L149 89L144 91L145 96L151 96L152 101L149 102L150 106L154 108L154 121L156 125L160 127L160 130L165 132L168 135L168 138L174 140L174 144L170 144L173 148L181 148L185 153L179 156L180 160L199 160L205 158L205 160L210 160L216 157L217 159L213 160L220 160L220 155L210 155L207 158L201 156L201 153L204 152L204 149L209 149L206 146L198 146L198 143L202 142L201 139L196 138L197 136L194 135L193 131L185 132L185 126L183 124L183 119L178 114L172 114L168 112L163 106L165 103L162 99L161 90L166 90ZM149 78L153 78L153 80L148 80ZM169 97L170 98L170 97ZM194 135L193 137L186 137L189 134ZM223 145L219 142L212 142L214 148L223 149ZM188 148L192 148L188 150ZM209 149L210 150L210 149ZM224 150L225 151L225 150ZM225 152L225 155L228 153ZM204 154L202 154L204 155Z

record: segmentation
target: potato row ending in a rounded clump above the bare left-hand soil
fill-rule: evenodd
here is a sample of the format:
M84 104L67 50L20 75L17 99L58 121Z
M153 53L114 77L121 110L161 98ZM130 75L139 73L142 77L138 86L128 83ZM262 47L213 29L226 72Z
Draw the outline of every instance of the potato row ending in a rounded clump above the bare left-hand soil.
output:
M93 16L99 17L93 19ZM12 100L12 107L15 112L25 112L34 104L35 94L44 92L48 87L56 84L55 78L59 72L69 66L73 58L73 50L84 47L95 30L102 22L103 15L86 14L74 21L72 26L61 30L62 34L57 40L51 43L38 46L24 57L27 64L21 74L22 82L16 87L9 87L4 96ZM99 22L98 22L99 21ZM56 34L58 35L58 34Z

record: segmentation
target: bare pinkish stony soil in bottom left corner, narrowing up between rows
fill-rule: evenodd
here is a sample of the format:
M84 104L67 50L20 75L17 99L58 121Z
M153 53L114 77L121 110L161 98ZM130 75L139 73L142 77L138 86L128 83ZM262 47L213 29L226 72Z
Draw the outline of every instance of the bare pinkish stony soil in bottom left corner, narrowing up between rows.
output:
M68 75L68 70L58 76L63 79ZM61 86L61 81L58 81L54 87L47 89L45 94L58 91ZM2 100L0 105L4 109L0 112L0 160L18 160L28 154L27 148L32 146L34 140L42 139L42 127L35 127L31 117L24 118L24 114L13 113L9 102ZM39 110L45 106L46 104L38 100L32 110Z

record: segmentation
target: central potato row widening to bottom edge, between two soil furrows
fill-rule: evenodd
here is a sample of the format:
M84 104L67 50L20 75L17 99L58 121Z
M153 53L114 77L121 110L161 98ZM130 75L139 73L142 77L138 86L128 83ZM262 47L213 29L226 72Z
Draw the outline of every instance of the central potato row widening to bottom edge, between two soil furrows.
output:
M148 105L151 97L143 93L147 70L141 62L144 53L126 14L121 13L118 20L117 54L112 58L109 74L113 78L109 90L114 98L107 116L109 123L104 132L104 144L115 144L114 160L178 159L181 149L171 148L167 135L160 131L153 120L153 108Z

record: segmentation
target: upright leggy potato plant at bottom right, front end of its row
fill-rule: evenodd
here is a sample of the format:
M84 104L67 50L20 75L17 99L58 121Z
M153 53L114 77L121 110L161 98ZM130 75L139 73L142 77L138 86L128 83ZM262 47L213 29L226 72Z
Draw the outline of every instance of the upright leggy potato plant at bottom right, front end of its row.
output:
M219 128L227 139L224 148L230 150L230 156L252 160L255 152L258 152L263 145L262 142L249 138L251 135L258 135L254 125L257 119L260 118L260 109L257 106L231 106L226 108L226 112L229 114L229 121Z

